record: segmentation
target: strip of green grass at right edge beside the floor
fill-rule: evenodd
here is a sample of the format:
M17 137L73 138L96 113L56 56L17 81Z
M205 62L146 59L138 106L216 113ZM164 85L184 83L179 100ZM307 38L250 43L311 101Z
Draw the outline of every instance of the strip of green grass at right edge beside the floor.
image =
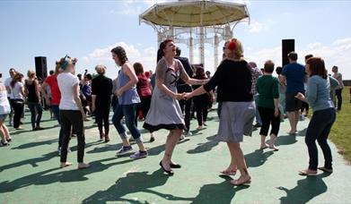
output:
M351 162L351 103L350 87L343 89L342 110L338 112L337 121L334 123L329 139L338 147L338 152Z

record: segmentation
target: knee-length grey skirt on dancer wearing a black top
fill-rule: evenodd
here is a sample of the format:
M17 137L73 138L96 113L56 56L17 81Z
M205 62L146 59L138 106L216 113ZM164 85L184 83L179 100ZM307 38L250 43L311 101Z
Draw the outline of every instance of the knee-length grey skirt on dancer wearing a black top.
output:
M241 142L251 136L256 106L250 102L223 102L216 140Z

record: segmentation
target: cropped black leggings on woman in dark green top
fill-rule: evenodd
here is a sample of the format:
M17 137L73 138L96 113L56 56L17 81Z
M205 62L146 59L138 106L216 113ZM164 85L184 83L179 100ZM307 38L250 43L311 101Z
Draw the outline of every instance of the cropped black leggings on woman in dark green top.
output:
M272 130L270 131L270 134L275 134L276 136L278 135L280 127L280 115L275 117L274 111L274 108L259 106L259 116L262 120L261 130L259 131L260 135L268 135L269 125L272 125Z

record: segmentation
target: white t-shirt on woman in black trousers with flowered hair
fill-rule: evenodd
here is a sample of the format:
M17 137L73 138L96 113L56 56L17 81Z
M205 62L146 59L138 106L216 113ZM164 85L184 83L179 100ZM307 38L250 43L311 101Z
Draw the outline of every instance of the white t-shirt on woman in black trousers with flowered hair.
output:
M61 110L79 110L73 97L73 86L78 83L78 77L72 73L62 72L57 75L58 89L60 89L61 92L61 101L59 105Z

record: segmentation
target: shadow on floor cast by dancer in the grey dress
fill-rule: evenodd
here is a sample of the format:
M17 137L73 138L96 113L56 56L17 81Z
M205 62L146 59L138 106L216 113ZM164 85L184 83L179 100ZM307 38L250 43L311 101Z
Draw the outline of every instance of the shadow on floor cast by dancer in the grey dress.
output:
M132 172L126 177L119 178L115 184L110 186L106 191L97 191L90 197L83 200L83 203L106 203L112 202L128 202L128 203L148 203L147 200L132 200L122 198L130 193L146 192L151 193L167 200L192 200L192 198L182 198L171 194L165 194L159 191L154 191L152 188L164 185L170 176L162 174L159 169L153 174L148 172Z

